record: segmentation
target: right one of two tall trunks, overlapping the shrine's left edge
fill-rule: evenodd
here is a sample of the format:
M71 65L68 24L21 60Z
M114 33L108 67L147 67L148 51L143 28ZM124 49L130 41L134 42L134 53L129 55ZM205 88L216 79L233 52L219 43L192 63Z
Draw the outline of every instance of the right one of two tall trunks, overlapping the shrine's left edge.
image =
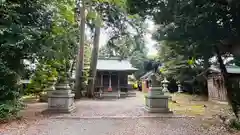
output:
M92 50L89 79L88 79L88 92L87 95L89 98L92 98L94 95L94 85L97 72L97 59L98 59L98 50L99 50L99 38L100 38L100 27L95 26L94 33L94 45Z

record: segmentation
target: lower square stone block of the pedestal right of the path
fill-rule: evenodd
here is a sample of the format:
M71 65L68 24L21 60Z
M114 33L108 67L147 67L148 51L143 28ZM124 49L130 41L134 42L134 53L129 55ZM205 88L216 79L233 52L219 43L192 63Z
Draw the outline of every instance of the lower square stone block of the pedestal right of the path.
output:
M168 108L169 96L145 96L145 110L150 113L172 113Z

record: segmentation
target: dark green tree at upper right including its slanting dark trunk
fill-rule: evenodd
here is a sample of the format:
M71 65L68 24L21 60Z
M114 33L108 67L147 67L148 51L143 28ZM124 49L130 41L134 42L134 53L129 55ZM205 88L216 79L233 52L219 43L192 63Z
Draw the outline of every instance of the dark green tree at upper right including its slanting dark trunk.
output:
M151 16L160 26L154 38L173 42L168 45L170 50L183 56L183 60L194 57L206 69L209 58L218 55L227 95L236 116L240 110L239 97L234 96L232 83L228 82L225 66L220 61L223 54L239 55L231 49L239 45L239 5L237 0L128 0L129 12Z

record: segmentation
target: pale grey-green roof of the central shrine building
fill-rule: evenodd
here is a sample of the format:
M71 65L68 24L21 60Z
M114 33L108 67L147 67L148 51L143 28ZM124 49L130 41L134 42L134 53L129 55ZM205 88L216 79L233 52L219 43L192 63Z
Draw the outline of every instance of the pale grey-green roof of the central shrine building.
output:
M97 62L99 71L136 71L129 60L119 58L99 58Z

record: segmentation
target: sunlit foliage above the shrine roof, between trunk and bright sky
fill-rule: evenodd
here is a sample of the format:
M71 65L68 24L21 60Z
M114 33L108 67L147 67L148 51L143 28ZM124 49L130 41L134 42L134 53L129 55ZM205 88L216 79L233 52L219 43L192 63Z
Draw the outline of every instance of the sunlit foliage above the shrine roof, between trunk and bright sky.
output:
M107 45L100 48L100 57L121 57L130 59L131 64L138 69L134 73L139 78L145 73L144 62L147 58L147 48L144 41L144 20L137 15L128 15L124 12L110 8L112 13L104 18L106 24L113 27L113 33ZM122 21L119 21L122 20ZM127 31L131 28L134 32Z

